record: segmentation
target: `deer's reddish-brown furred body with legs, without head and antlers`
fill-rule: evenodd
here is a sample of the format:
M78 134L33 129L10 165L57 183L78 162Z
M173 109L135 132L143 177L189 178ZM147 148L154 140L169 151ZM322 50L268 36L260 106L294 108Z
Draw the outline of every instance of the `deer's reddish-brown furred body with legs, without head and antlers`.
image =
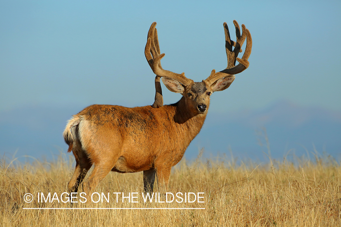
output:
M155 169L158 179L167 182L171 167L181 160L206 118L206 113L186 113L184 100L156 109L92 105L74 115L63 133L68 151L72 150L76 159L69 189L77 191L92 164L95 168L88 190L110 170L133 173Z

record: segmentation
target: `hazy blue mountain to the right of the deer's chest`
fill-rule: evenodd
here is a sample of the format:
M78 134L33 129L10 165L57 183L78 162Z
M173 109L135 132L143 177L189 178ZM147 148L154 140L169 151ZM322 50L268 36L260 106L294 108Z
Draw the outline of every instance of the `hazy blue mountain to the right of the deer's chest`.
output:
M206 137L206 135L211 135ZM268 143L266 142L266 136ZM341 159L341 112L317 107L297 106L278 101L260 110L243 110L229 114L208 113L198 141L206 140L206 150L234 154L241 158L267 160L268 146L273 158L310 156L314 149L337 160ZM207 146L207 145L210 146ZM314 148L315 147L315 148ZM289 151L289 153L288 153ZM308 151L308 154L307 154Z

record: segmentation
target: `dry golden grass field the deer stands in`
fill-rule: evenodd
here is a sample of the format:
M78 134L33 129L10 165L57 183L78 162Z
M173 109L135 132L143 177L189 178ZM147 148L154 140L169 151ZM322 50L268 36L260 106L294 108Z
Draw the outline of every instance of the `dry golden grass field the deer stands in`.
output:
M316 158L316 157L315 157ZM233 163L183 159L173 167L168 192L204 192L204 203L38 202L26 193L66 192L73 156L32 164L2 159L1 226L341 226L341 167L329 158ZM157 191L157 185L154 187ZM143 192L142 173L110 173L96 192ZM136 195L136 194L135 194ZM164 194L161 197L164 199ZM203 195L203 194L202 194ZM180 199L179 199L180 200ZM205 209L36 209L23 208L205 208Z

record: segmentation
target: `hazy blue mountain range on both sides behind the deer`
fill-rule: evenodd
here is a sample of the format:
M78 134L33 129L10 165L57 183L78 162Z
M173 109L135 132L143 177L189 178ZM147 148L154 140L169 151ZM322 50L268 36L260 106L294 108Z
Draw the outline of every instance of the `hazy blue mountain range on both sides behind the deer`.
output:
M66 152L62 132L66 120L83 107L26 107L0 113L0 155L12 158L29 155L36 158ZM266 140L266 135L268 143ZM268 161L272 158L310 156L314 146L341 159L341 113L322 108L301 107L278 101L261 110L234 113L208 112L202 131L186 151L193 159L205 147L205 157Z

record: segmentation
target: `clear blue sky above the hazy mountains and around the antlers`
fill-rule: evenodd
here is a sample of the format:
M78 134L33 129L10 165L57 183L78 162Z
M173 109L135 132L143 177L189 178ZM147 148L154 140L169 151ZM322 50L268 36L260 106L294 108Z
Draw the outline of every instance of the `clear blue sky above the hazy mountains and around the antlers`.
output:
M340 12L340 1L1 1L0 112L152 104L151 23L163 68L201 81L226 67L222 25L234 34L234 19L251 32L250 67L211 96L210 112L276 100L340 111ZM180 99L163 93L165 104Z

